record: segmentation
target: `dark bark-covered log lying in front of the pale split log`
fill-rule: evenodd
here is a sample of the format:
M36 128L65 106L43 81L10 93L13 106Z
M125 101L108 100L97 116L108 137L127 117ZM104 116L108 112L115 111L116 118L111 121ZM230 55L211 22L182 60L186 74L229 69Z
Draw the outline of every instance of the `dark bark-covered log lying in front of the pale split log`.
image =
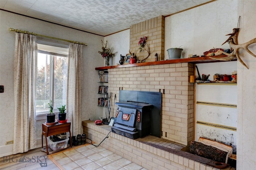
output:
M190 143L190 153L215 160L217 162L227 163L228 152L217 149L212 146L204 145L203 143L191 141Z

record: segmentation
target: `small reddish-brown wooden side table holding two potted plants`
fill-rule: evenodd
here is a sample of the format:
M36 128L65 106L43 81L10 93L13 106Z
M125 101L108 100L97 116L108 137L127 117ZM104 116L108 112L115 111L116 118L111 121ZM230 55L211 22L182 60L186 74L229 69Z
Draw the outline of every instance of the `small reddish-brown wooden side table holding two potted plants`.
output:
M47 154L49 154L48 144L47 144L48 136L58 135L61 133L69 132L70 147L72 147L70 126L71 126L70 121L67 121L66 123L56 123L55 125L46 125L46 123L42 123L42 148L43 148L43 136L44 136Z

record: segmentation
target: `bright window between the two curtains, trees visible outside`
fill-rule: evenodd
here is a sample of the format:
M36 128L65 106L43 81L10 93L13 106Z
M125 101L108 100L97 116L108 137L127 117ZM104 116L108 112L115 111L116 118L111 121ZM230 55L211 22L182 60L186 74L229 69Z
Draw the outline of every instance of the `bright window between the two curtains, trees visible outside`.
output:
M54 112L66 105L68 48L38 44L36 82L36 114L49 112L52 100Z

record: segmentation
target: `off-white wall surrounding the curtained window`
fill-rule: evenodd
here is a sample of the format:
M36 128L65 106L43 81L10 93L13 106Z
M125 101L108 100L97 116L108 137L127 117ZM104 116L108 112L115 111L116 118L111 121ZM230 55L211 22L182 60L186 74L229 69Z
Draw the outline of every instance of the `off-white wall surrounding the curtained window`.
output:
M0 93L0 156L12 154L12 145L5 145L6 141L13 140L14 130L14 82L13 59L15 33L8 28L26 30L42 35L88 43L83 50L84 79L82 92L81 120L94 119L102 115L96 111L98 92L98 74L95 67L102 66L104 60L98 53L101 49L102 36L77 31L60 25L19 16L0 11L0 85L4 85L4 93ZM45 116L46 118L46 116ZM38 146L41 145L42 123L46 119L37 121ZM81 123L81 122L77 122ZM81 128L82 132L82 128ZM73 134L77 135L77 134Z

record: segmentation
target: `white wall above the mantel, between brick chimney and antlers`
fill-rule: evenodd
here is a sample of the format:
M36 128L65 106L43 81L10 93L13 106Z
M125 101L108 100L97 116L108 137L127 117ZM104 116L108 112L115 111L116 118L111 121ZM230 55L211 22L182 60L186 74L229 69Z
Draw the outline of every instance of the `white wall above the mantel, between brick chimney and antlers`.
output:
M222 45L238 21L236 0L218 0L165 18L165 59L167 49L183 48L182 58L189 54L203 55L212 48L229 49Z

